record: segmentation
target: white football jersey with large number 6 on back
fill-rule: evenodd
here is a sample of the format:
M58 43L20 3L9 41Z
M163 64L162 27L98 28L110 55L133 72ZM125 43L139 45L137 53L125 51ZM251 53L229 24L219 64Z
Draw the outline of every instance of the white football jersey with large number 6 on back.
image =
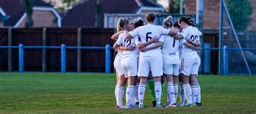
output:
M136 28L135 30L133 30L132 32L130 32L131 36L134 37L138 37L138 39L136 39L136 45L143 43L143 42L147 42L149 40L151 40L153 37L158 37L160 38L161 34L169 34L169 30L167 30L166 28L164 28L163 26L156 26L156 25L152 25L152 24L147 24L144 26L140 26L138 28ZM159 39L159 41L163 42L164 39ZM151 47L153 45L155 45L156 43L152 43L150 45L147 45L146 47ZM156 48L156 49L152 49L150 51L146 51L146 52L139 52L139 56L156 56L156 57L162 57L161 54L161 49Z

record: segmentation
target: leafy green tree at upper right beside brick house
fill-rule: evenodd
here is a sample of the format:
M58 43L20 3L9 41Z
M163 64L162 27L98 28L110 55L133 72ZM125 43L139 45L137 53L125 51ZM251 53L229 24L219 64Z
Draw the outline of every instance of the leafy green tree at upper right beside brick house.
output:
M227 10L230 13L235 30L246 30L251 23L252 6L248 0L226 0Z

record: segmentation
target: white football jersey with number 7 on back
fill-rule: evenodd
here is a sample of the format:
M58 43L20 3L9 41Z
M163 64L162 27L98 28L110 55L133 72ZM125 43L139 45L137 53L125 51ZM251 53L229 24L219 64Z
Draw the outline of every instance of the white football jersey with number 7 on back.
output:
M174 39L170 35L161 35L164 38L162 54L164 63L179 63L179 42L180 40Z

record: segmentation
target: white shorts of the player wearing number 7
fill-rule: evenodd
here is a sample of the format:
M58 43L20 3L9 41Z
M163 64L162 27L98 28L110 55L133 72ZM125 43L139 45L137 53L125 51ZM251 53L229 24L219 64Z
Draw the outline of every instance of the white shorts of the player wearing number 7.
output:
M168 75L179 75L179 63L178 64L171 64L171 63L164 63L163 65L164 74Z

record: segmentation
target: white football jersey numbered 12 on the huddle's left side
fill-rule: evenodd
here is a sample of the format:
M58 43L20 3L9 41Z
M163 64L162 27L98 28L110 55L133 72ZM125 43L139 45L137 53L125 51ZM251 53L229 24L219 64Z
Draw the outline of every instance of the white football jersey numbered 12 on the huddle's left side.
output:
M129 46L136 47L136 49L134 51L123 51L122 58L125 58L127 56L138 56L139 49L135 45L134 40L135 40L134 38L133 39L126 39L124 33L119 34L116 44L118 44L120 46L124 46L124 47L129 47Z

